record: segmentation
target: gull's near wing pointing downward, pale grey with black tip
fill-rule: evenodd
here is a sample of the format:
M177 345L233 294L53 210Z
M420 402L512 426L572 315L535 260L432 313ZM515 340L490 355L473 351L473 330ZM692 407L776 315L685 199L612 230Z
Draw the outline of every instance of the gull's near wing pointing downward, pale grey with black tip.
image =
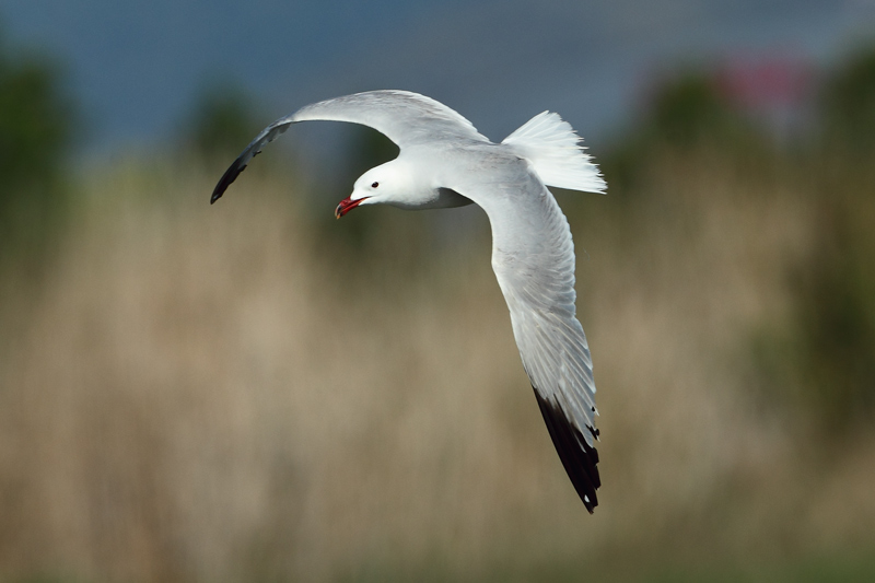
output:
M556 199L526 164L493 159L482 166L489 172L470 172L452 187L489 215L492 268L523 365L562 465L592 513L602 483L597 411L590 348L575 317L571 231Z

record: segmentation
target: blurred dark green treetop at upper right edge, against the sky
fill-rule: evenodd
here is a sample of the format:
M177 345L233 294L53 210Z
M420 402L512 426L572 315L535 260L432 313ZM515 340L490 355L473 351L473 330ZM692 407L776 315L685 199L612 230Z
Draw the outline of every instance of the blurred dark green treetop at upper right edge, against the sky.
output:
M830 145L863 153L875 148L875 47L851 57L826 82L821 118Z

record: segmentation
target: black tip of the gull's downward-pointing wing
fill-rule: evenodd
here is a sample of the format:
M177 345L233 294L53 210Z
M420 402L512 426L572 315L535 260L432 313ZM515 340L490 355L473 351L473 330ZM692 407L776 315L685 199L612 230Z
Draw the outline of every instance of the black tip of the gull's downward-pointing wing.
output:
M544 422L547 423L547 430L550 432L550 439L562 460L562 466L565 468L568 477L571 478L578 495L581 497L583 505L592 514L598 505L596 490L602 486L602 478L598 476L596 467L598 451L586 443L583 434L571 423L559 404L541 397L537 388L535 388L535 398L538 399L540 413L544 416ZM587 429L593 432L593 435L597 435L595 430L588 427Z

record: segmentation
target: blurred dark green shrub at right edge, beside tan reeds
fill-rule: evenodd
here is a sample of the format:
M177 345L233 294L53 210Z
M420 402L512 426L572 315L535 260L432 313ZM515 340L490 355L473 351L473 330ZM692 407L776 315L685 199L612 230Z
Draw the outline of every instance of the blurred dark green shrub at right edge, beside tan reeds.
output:
M840 433L875 417L874 201L853 178L825 195L814 253L794 277L805 397Z

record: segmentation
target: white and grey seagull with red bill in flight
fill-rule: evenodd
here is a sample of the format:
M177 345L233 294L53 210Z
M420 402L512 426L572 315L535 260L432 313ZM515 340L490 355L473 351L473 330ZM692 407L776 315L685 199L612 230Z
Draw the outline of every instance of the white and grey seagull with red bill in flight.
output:
M536 115L493 143L450 107L408 91L369 91L306 105L265 128L222 175L215 202L249 161L292 124L349 121L394 141L395 160L365 172L335 210L460 207L489 217L492 269L511 313L520 357L559 458L590 513L598 505L595 382L575 317L574 244L547 186L603 194L607 188L580 138L559 115Z

